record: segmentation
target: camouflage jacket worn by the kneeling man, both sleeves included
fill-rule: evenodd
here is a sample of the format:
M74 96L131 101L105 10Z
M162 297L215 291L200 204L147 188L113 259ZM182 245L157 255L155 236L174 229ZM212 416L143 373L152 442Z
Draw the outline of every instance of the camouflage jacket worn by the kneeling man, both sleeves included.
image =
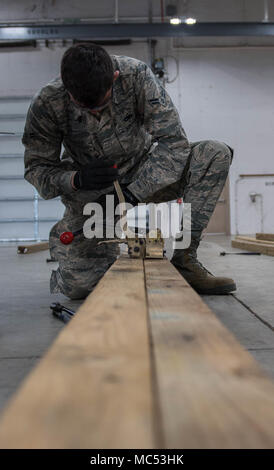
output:
M72 188L72 173L91 156L114 159L120 182L145 202L180 179L190 153L177 110L150 68L130 57L112 60L120 74L100 121L70 100L60 77L36 93L28 110L22 138L25 179L44 199L61 196L73 211L113 192L113 186Z

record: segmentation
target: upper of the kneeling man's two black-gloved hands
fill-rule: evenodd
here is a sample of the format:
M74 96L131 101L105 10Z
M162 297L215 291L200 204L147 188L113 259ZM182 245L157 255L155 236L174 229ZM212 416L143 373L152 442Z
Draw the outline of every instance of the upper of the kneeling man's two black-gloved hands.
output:
M118 178L118 170L113 165L112 160L94 160L75 173L72 185L86 190L107 188Z

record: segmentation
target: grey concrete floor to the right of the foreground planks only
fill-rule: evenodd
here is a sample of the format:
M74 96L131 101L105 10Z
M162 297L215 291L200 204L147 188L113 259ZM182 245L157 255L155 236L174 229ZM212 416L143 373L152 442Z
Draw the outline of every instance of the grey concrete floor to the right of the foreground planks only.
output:
M206 236L199 259L213 274L232 277L237 290L202 298L274 379L274 257L220 256L221 251L242 252L231 247L231 237Z

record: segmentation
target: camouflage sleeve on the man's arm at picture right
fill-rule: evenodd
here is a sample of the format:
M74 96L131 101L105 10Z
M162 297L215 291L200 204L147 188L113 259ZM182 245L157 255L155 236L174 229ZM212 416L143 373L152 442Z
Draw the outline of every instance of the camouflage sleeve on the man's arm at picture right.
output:
M155 146L128 188L145 202L156 191L180 179L190 145L171 98L144 63L135 77L135 93L138 112Z

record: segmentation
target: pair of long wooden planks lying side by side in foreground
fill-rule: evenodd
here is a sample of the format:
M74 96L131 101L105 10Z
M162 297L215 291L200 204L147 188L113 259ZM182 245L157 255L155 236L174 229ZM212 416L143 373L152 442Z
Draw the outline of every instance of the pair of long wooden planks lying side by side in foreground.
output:
M273 448L274 383L168 260L119 258L26 378L1 448Z

